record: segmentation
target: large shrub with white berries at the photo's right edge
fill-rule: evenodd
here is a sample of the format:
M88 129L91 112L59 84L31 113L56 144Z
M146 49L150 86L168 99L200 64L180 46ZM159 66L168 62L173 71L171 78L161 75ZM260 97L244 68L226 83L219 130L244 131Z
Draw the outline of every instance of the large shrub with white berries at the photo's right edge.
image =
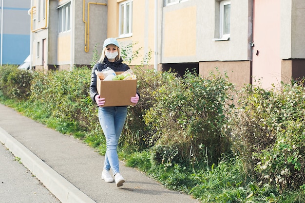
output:
M247 86L231 113L232 149L262 183L281 191L305 183L304 81L265 90ZM232 111L233 112L233 111Z

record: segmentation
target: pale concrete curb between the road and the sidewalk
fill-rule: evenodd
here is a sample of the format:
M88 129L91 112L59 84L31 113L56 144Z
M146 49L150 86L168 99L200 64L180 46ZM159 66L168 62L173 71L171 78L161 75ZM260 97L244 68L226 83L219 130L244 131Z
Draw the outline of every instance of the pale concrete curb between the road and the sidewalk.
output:
M61 203L96 203L72 185L53 168L40 160L32 151L19 143L0 127L0 142L8 148L36 178L52 192Z

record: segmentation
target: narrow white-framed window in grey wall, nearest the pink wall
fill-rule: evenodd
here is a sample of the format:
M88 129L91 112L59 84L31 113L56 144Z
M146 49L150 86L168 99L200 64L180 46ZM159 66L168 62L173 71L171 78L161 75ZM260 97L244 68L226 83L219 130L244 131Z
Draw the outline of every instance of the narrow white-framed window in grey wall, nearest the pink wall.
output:
M223 0L220 2L220 28L219 28L219 38L229 39L230 38L230 12L231 11L231 1Z

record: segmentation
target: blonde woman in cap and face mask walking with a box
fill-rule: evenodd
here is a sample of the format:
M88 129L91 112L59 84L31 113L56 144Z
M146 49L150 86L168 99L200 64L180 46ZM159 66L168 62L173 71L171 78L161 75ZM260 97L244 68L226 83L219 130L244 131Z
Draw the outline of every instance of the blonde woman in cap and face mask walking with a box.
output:
M127 107L103 107L105 104L105 98L100 98L100 95L97 93L95 70L102 71L102 69L109 67L115 72L124 72L130 69L126 64L122 63L122 61L123 59L120 56L120 48L117 40L114 38L106 39L103 44L101 58L92 69L90 83L90 97L99 107L98 119L107 142L102 179L108 183L115 180L115 184L118 187L122 186L125 182L119 171L117 144L125 124ZM134 97L131 97L131 102L136 104L138 101L139 93L136 92ZM110 168L112 169L114 179L109 172Z

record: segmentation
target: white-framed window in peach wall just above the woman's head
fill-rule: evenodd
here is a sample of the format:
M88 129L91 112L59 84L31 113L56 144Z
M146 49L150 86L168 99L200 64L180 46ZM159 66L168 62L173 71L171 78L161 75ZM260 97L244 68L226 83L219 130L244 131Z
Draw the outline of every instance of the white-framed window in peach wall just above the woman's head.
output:
M129 4L129 14L126 10ZM123 8L123 9L122 9ZM127 27L129 25L129 27ZM131 37L133 35L133 0L125 0L119 3L118 36Z

